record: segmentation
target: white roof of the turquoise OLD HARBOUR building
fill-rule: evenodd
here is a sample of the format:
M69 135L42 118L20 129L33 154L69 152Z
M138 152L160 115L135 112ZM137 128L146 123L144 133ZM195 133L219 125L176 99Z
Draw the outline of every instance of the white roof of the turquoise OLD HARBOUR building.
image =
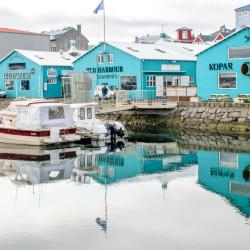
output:
M206 49L205 44L185 44L159 41L156 44L108 42L132 56L144 60L196 61L196 54Z

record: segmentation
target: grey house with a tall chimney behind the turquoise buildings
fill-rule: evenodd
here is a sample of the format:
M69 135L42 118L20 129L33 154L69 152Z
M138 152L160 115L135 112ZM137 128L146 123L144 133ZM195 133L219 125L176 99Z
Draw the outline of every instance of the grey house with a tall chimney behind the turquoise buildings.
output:
M89 40L82 34L81 25L74 27L65 27L61 30L44 31L43 34L50 36L51 51L68 51L71 47L71 41L76 41L77 50L88 50Z

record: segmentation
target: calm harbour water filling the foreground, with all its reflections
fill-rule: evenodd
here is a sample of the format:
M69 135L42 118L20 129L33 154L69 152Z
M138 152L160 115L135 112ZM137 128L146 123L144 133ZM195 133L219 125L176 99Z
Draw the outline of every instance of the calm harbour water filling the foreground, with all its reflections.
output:
M232 149L178 138L0 145L0 249L250 249L248 139Z

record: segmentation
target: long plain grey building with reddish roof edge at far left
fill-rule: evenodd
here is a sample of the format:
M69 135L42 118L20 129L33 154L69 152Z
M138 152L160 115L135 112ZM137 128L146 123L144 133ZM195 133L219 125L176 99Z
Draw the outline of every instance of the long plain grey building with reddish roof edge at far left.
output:
M0 28L0 59L14 49L22 50L50 50L48 35L30 31Z

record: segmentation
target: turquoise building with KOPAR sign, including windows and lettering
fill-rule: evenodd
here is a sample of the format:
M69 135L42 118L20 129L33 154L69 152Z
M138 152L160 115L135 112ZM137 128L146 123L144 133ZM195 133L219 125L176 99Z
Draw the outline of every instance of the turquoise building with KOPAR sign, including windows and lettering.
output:
M250 94L250 28L245 27L197 55L197 93L232 98Z

